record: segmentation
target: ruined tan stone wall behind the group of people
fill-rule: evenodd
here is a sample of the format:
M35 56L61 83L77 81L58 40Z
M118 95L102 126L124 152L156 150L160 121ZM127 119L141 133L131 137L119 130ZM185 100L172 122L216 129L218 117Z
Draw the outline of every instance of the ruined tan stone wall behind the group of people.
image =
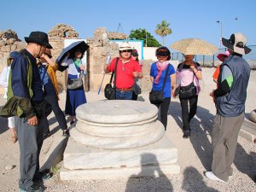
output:
M28 34L29 35L29 34ZM53 46L51 49L53 59L61 53L64 47L64 40L70 38L79 38L79 33L75 32L72 26L65 24L59 24L53 27L49 33L49 44ZM106 63L107 56L111 51L111 58L119 55L118 44L109 42L109 39L125 39L126 35L119 32L107 32L106 28L96 28L93 38L87 39L90 49L87 50L87 67L88 75L85 76L84 89L86 91L97 91L102 83L103 67ZM3 67L6 66L6 58L11 51L19 51L26 48L26 42L22 42L16 32L7 30L5 32L0 31L0 73L3 71ZM142 90L151 90L151 82L149 79L150 65L153 61L143 61L143 74L144 77L141 81ZM59 90L66 90L67 82L67 70L65 72L56 73ZM111 73L105 75L102 83L102 91L104 91L105 84L109 83ZM3 88L0 88L0 94L3 94Z

